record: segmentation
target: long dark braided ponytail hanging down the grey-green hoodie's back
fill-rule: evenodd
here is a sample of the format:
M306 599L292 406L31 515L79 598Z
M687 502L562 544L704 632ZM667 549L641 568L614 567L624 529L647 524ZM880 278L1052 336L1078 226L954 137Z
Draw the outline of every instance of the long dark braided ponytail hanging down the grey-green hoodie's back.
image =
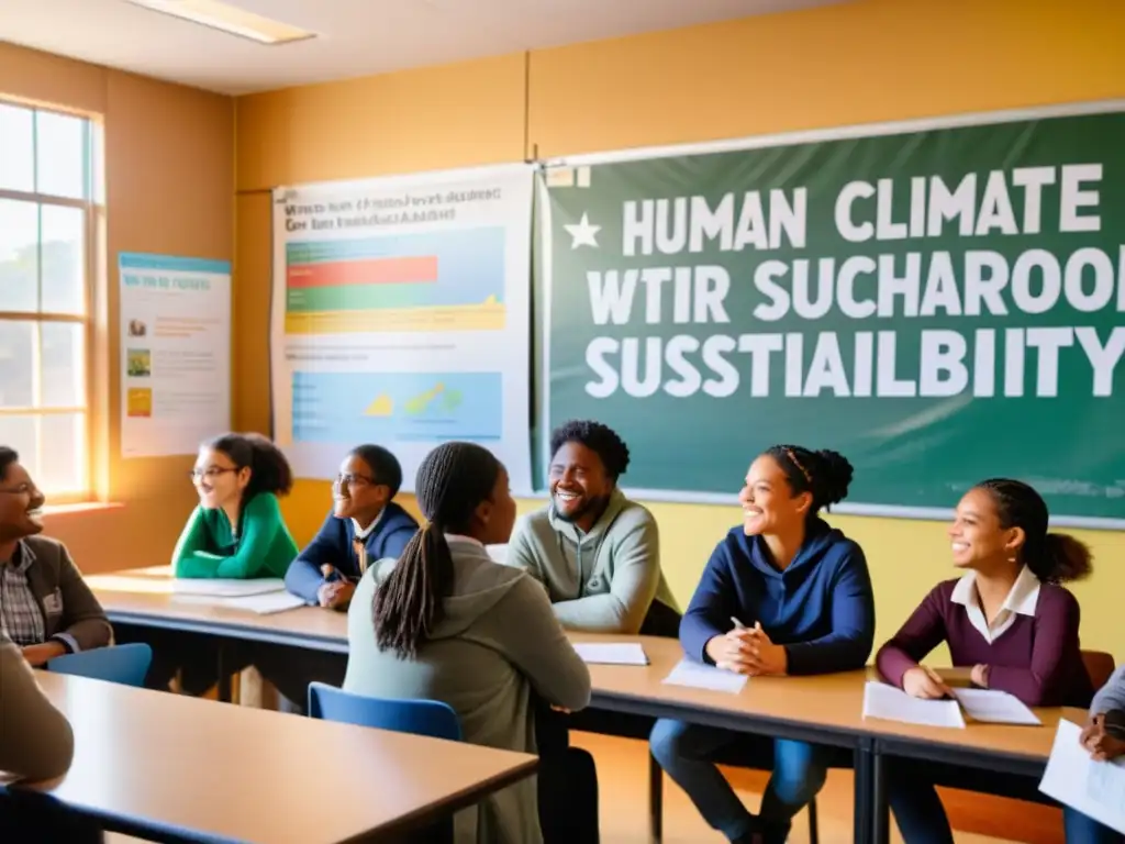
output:
M453 584L449 542L433 522L406 544L390 575L375 591L375 639L380 650L413 659L444 617L444 598Z

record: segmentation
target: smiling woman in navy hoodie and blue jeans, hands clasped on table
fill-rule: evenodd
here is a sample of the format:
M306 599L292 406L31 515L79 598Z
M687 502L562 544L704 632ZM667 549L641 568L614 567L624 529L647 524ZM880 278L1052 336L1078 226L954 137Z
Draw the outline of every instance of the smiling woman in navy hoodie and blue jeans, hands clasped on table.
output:
M866 664L875 634L867 563L818 515L847 495L850 482L852 465L835 451L774 446L750 465L739 495L742 524L714 549L680 625L688 658L750 676ZM704 819L736 844L784 842L792 817L824 785L831 754L666 719L650 742ZM745 747L748 763L773 767L757 817L714 764L732 746Z

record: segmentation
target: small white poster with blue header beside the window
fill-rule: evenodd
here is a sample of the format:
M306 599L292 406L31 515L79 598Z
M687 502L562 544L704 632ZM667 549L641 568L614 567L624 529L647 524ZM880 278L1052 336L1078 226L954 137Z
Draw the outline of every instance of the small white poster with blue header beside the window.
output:
M195 454L231 428L231 264L120 253L122 456Z

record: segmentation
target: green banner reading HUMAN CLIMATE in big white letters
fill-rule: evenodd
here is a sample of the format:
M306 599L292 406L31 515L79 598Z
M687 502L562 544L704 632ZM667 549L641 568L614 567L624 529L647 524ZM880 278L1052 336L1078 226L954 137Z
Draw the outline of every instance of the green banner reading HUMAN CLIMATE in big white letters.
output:
M996 119L548 167L547 427L613 427L665 499L784 442L857 512L1004 475L1125 520L1125 114Z

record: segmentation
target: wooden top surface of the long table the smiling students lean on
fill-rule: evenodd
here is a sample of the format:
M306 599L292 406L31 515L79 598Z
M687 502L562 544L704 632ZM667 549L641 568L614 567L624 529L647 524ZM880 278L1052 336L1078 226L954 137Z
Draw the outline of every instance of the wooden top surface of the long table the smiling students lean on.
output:
M119 572L119 577L138 572ZM166 566L141 569L144 577L166 577ZM346 616L315 607L273 616L228 610L222 607L178 602L170 594L130 593L98 586L90 578L102 607L111 618L159 618L173 625L197 623L228 629L249 637L280 637L292 644L346 653ZM873 668L809 677L752 677L739 694L665 685L664 679L683 658L676 639L639 636L575 634L575 641L641 641L648 666L591 665L595 704L630 701L674 710L719 713L724 719L758 724L814 726L827 734L876 736L888 739L940 745L953 749L988 752L1027 761L1045 761L1051 753L1060 718L1078 722L1078 709L1037 709L1040 727L969 722L965 729L920 727L912 724L863 717L864 684L876 680ZM960 677L964 672L950 670ZM608 707L610 708L610 707Z

